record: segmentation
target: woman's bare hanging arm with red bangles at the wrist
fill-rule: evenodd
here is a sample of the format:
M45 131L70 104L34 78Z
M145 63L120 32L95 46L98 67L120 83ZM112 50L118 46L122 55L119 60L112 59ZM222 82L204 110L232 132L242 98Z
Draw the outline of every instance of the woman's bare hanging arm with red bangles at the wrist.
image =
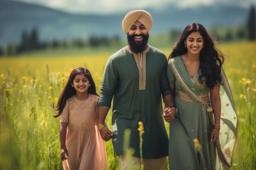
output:
M213 108L214 113L214 121L216 126L220 126L220 112L221 112L221 104L220 104L220 85L214 86L210 91L211 93L211 106ZM216 142L219 139L220 129L213 128L211 133L211 141L210 144Z

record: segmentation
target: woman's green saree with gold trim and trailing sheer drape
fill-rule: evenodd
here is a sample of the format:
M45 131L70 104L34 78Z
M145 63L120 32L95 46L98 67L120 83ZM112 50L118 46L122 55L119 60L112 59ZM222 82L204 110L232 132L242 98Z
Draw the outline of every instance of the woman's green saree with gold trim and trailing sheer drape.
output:
M175 84L177 106L169 131L170 170L227 170L231 166L237 115L227 77L222 70L220 135L215 144L209 144L214 118L203 97L210 88L198 82L199 75L200 71L189 75L181 56L168 62L168 81Z

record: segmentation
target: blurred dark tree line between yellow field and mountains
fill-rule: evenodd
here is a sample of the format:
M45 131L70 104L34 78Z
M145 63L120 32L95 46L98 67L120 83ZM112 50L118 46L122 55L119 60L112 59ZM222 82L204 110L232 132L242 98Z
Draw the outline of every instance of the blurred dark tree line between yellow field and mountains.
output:
M219 31L221 30L221 32ZM169 39L171 42L176 42L182 31L171 30L169 31ZM234 29L229 27L225 29L220 29L218 27L209 30L213 37L216 37L218 41L232 41L232 40L256 40L256 19L255 19L255 9L251 6L249 10L249 15L247 18L247 23L236 27ZM33 28L29 33L23 31L21 33L21 38L19 43L8 44L7 47L0 47L1 55L17 55L25 51L32 51L38 49L47 48L68 48L68 47L99 47L99 46L116 46L120 44L121 40L119 36L107 37L107 36L96 36L92 35L87 39L75 38L73 40L52 40L52 41L40 41L38 38L38 29Z

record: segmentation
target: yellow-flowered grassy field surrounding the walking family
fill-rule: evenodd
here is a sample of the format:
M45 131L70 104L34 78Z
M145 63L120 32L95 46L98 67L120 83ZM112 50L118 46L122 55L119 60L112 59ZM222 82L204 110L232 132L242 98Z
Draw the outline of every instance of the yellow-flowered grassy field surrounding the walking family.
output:
M231 170L256 169L256 42L218 44L238 114L238 138ZM161 49L161 48L159 48ZM161 49L168 56L170 49ZM62 52L63 53L63 52ZM99 93L103 70L114 50L90 54L27 55L0 58L0 170L61 170L59 118L50 104L73 68L86 67ZM111 124L111 114L106 123ZM168 131L168 124L166 123ZM106 142L110 170L118 169L111 141ZM165 170L168 170L166 164Z

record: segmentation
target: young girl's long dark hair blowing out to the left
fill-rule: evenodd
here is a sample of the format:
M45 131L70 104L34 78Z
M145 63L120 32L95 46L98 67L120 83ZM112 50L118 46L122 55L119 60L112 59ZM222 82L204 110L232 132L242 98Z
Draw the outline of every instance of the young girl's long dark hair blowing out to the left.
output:
M66 105L67 99L69 99L70 97L76 94L76 90L74 87L71 86L71 83L74 81L76 75L81 75L81 74L83 74L89 80L90 86L88 88L88 93L99 96L96 92L96 86L92 79L92 75L90 71L83 67L75 68L70 73L70 77L67 81L67 85L64 87L61 93L61 96L58 99L57 106L54 106L54 102L52 103L52 110L56 112L56 115L53 115L53 117L59 117Z

